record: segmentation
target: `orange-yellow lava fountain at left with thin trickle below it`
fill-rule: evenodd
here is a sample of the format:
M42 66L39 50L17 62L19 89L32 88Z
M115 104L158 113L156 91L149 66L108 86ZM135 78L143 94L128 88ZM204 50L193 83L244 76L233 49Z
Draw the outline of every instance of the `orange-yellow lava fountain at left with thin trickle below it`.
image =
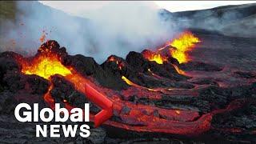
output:
M46 45L49 45L49 43L46 42ZM22 73L35 74L42 78L46 78L49 81L51 81L50 77L55 74L59 74L64 77L72 74L71 69L62 65L58 54L55 54L53 52L54 50L52 51L51 45L54 45L54 43L50 43L50 47L42 45L38 49L39 54L32 58L32 60L20 61L22 65ZM44 100L52 109L54 109L54 98L51 97L50 90L53 88L54 86L52 82L50 82L50 87L44 95Z

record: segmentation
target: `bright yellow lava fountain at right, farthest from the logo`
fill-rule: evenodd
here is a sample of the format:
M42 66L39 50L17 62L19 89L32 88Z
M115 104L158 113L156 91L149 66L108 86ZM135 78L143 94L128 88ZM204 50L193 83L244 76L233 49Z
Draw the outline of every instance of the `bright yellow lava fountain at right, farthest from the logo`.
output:
M190 31L186 31L170 42L170 46L175 48L170 49L170 54L173 58L176 58L179 63L188 62L190 58L186 53L192 50L195 43L198 42L200 42L199 38L195 37Z

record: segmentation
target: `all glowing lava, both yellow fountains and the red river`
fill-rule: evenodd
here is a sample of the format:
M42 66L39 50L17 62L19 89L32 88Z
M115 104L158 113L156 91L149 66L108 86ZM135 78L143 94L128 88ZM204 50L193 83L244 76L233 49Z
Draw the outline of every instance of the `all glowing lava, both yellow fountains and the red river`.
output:
M192 39L192 42L183 42L181 44L178 40ZM178 59L178 62L187 62L186 50L183 45L188 46L188 50L194 47L194 43L200 42L198 38L194 38L189 32L182 34L180 38L168 43L168 46L176 46L174 50L170 50L170 54L174 55L174 58ZM110 118L104 124L122 128L124 130L134 130L143 132L158 132L167 134L182 134L193 135L201 134L210 130L211 120L214 114L234 110L238 106L241 106L243 101L238 100L230 102L226 108L213 110L207 114L199 114L198 110L182 110L182 109L165 109L158 106L145 105L142 103L134 103L127 100L131 95L137 95L138 98L148 98L150 100L161 99L163 95L167 94L170 97L172 95L183 94L190 97L196 97L198 94L193 90L175 90L170 88L147 88L145 86L139 86L132 82L125 76L122 76L122 80L125 81L129 88L126 90L112 90L95 82L94 78L86 77L80 74L71 66L64 66L62 64L62 57L58 54L58 50L52 49L54 43L46 42L42 45L38 54L33 58L19 59L22 66L23 74L36 74L42 78L46 78L50 83L48 92L44 95L45 102L54 109L54 98L50 95L50 90L54 89L51 78L55 75L61 75L66 81L70 82L75 90L78 90L86 96L85 86L90 85L98 92L105 94L106 97L113 102L114 116L121 120L116 121L114 118ZM162 50L162 49L161 49ZM167 56L162 56L160 53L153 55L146 55L150 61L155 61L159 65L162 65L167 61ZM111 58L110 61L114 62ZM122 64L117 62L118 68L122 69ZM186 74L185 71L179 70L178 66L174 65L174 68L179 74ZM148 70L151 76L154 78L161 78L158 74L154 74L150 69ZM90 98L88 98L90 99ZM63 100L64 102L65 99ZM66 102L66 106L72 106ZM125 112L124 112L125 111ZM91 115L91 120L94 116Z

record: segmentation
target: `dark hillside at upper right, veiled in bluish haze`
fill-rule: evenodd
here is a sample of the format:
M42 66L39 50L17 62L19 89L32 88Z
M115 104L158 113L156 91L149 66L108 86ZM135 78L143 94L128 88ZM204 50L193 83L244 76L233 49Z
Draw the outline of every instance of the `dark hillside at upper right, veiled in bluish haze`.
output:
M256 3L176 13L162 11L166 20L179 22L180 26L186 28L213 30L228 36L247 38L256 38L255 14Z

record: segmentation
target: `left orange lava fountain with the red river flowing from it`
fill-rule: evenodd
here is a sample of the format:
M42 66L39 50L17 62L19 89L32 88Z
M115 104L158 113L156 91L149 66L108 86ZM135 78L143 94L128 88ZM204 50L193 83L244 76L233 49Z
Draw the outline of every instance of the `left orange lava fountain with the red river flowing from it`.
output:
M175 90L164 90L165 88L149 89L143 86L138 86L125 76L122 76L121 79L130 85L126 90L112 90L100 86L97 82L94 83L94 79L87 79L82 74L79 74L73 67L63 65L62 55L65 57L67 54L62 54L62 50L60 50L59 46L54 46L57 44L57 42L46 42L39 48L38 54L34 58L19 61L22 65L22 73L36 74L42 78L46 78L50 82L52 81L51 78L54 74L62 75L63 78L74 86L75 90L78 90L87 96L90 101L92 101L92 99L90 99L90 96L86 93L86 85L89 85L94 90L102 92L102 94L106 94L106 99L113 102L115 116L115 118L106 121L106 125L119 127L125 130L168 134L201 134L210 130L210 122L215 113L209 112L200 114L196 109L180 109L178 107L166 109L156 105L150 105L150 103L139 103L140 101L132 102L142 98L141 102L159 101L161 103L163 97L171 97L172 95L177 96L178 94L186 95L183 94L186 90L175 92ZM110 57L108 58L108 61L114 62L116 60L114 57ZM121 61L117 61L117 64L119 69L124 66ZM184 74L182 70L176 70L179 71L180 74ZM150 69L148 72L154 77L156 76ZM45 101L49 106L54 106L54 98L50 95L50 90L53 89L54 82L51 82L48 92L44 95ZM175 94L171 94L174 92ZM192 92L193 91L190 91L190 95L186 96L186 98L193 97ZM136 98L134 95L136 95ZM159 104L159 102L157 103ZM163 100L163 102L168 101ZM65 104L66 106L72 106L72 103L67 103L67 101L65 101ZM227 110L224 109L222 111ZM109 116L111 115L109 114Z

